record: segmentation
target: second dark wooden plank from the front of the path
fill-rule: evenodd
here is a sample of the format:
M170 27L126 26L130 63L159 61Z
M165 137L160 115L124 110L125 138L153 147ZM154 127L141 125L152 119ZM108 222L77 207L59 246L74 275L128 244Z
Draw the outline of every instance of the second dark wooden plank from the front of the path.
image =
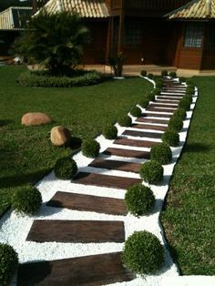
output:
M107 220L34 220L27 241L36 242L123 242L123 221Z

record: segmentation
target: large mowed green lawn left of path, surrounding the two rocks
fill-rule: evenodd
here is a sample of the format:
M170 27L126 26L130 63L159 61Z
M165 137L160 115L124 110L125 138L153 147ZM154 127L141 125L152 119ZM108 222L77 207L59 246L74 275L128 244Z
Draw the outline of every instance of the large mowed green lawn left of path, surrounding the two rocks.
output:
M34 183L71 154L49 140L53 126L69 128L74 137L94 138L107 123L144 97L151 85L138 77L73 88L20 87L16 79L26 67L0 66L0 214L15 189ZM23 127L26 112L45 112L55 123Z

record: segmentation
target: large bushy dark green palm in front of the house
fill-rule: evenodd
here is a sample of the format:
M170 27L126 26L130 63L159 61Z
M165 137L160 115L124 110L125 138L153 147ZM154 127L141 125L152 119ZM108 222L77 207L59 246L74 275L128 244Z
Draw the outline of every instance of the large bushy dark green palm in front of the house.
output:
M52 75L65 75L79 64L88 42L89 30L77 14L40 13L31 18L15 43L15 51L46 66Z

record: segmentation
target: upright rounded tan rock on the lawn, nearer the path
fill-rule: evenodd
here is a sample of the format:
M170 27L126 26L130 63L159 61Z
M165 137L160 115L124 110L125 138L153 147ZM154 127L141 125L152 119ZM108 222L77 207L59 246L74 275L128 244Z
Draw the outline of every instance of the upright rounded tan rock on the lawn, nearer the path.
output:
M71 142L71 135L67 128L56 126L51 129L51 142L55 146L66 146Z

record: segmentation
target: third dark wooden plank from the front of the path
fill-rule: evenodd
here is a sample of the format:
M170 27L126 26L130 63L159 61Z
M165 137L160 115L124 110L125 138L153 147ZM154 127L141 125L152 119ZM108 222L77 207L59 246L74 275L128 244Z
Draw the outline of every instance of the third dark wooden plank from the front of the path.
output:
M46 203L49 207L95 211L111 215L126 216L128 211L124 199L113 199L57 191Z

